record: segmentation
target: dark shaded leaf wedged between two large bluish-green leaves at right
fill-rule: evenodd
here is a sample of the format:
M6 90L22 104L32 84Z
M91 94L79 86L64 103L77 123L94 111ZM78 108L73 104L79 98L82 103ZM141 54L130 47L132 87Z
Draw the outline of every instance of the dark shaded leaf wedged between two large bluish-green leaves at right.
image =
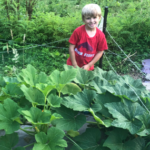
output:
M121 99L117 96L114 96L113 94L106 92L104 94L98 94L96 97L96 101L101 105L101 109L98 111L98 113L101 113L103 116L111 117L111 114L108 112L108 109L104 106L106 103L111 102L120 102Z

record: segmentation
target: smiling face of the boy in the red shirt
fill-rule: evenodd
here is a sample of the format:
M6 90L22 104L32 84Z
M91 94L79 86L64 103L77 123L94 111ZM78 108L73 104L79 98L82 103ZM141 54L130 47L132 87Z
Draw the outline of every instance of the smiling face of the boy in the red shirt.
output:
M85 16L84 23L87 29L96 29L101 17L100 16Z

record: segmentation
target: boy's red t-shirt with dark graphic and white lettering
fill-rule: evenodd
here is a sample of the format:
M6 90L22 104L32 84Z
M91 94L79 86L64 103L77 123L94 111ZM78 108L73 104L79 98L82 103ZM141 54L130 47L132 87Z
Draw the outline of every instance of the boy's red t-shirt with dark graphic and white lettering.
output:
M96 28L94 37L89 37L85 30L85 25L74 30L69 43L75 45L75 58L79 67L88 64L98 51L108 49L104 33ZM72 66L70 57L67 60L67 65ZM94 65L89 70L93 69Z

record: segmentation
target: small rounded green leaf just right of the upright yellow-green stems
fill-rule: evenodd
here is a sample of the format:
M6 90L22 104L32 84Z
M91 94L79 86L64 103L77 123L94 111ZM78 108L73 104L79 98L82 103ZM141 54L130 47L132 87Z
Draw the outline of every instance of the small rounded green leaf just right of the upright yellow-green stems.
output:
M48 102L48 104L50 104L50 106L52 106L52 107L60 107L60 104L61 104L61 102L62 102L62 98L61 98L61 97L58 97L57 95L50 94L50 95L47 97L47 102Z

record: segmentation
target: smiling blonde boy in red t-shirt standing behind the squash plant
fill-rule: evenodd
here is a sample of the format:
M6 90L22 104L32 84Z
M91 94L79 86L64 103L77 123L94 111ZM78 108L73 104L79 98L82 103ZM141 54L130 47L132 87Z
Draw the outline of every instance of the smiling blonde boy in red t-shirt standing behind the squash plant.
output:
M105 35L97 28L100 19L101 9L97 4L83 7L82 20L85 24L76 28L69 39L67 65L94 70L94 64L108 49Z

